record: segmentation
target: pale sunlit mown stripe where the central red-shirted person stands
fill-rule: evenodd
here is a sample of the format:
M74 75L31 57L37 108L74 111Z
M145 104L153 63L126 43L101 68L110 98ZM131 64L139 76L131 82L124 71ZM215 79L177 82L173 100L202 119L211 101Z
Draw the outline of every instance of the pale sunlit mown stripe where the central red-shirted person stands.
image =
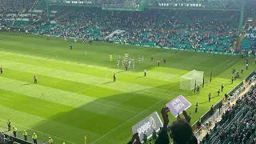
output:
M132 91L146 90L151 88L150 86L142 86L142 85L138 85L130 82L122 82L122 80L121 82L120 81L110 82L110 80L107 80L106 78L100 78L94 75L79 74L79 73L69 72L66 70L55 70L55 69L44 68L41 66L31 66L24 63L11 62L11 61L5 61L5 60L3 60L2 63L6 65L6 68L11 70L22 70L28 73L42 74L48 77L86 83L91 86L101 86L103 88L107 88L110 90L132 92ZM120 74L120 75L121 75L120 77L122 77L122 75L125 76L125 74ZM40 81L40 78L38 78L38 81ZM158 91L161 92L162 90L158 90Z

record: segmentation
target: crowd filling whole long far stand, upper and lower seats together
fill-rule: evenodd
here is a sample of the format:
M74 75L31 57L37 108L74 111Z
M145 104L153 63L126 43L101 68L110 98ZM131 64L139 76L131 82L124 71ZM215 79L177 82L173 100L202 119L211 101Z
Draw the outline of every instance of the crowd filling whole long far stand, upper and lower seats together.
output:
M39 34L65 35L73 38L106 38L125 40L131 44L151 43L153 46L197 48L229 51L236 38L238 18L233 13L203 11L145 10L111 11L97 8L75 10L56 24L46 24L34 31Z

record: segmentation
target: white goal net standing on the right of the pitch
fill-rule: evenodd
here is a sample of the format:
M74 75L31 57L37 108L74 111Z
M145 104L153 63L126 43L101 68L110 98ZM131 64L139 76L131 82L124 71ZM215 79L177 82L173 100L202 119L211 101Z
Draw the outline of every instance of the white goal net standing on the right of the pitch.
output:
M193 90L194 86L201 85L203 82L203 71L192 70L183 75L180 80L180 89Z

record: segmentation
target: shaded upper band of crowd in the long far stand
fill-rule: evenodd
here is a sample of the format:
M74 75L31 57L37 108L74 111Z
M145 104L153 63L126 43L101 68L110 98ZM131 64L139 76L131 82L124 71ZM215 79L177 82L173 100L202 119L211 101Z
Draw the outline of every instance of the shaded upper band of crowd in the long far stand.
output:
M199 14L198 14L199 13ZM201 15L202 16L201 16ZM214 18L212 15L215 15ZM65 18L70 22L74 17L90 19L90 22L99 26L128 29L150 30L203 30L217 33L235 32L236 21L229 20L230 14L207 11L170 11L170 10L145 10L135 11L111 11L97 10L96 8L80 9ZM226 18L226 19L225 19ZM62 20L61 20L62 21Z

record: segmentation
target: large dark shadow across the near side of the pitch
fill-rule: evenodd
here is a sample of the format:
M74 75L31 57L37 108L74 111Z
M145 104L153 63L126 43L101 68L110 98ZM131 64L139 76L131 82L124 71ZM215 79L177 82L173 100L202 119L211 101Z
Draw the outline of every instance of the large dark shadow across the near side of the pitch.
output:
M37 134L38 137L45 138L46 140L50 136L52 138L56 136L70 142L83 143L83 138L86 135L88 138L86 142L91 143L102 137L102 135L122 125L118 130L114 130L95 143L118 143L115 139L120 140L124 138L128 138L125 141L129 142L131 127L147 115L152 114L155 110L160 112L161 107L170 102L170 98L177 97L177 94L172 93L178 90L178 84L179 82L176 82L146 90L115 94L98 98L92 102L86 102L85 99L85 104L75 109L70 109L70 106L64 106L60 104L61 102L48 102L47 94L44 94L44 98L39 100L46 102L46 106L49 103L49 106L56 109L52 110L52 112L49 111L50 115L54 113L54 111L58 111L60 107L63 107L65 110L70 110L65 113L53 114L53 116L46 118L48 120L34 125L32 129L45 132L46 134ZM170 95L169 98L166 98L167 95ZM60 98L61 97L60 95ZM61 99L61 101L65 101L65 98ZM81 99L73 98L70 105L76 102L80 103L81 101ZM142 113L144 110L146 111ZM38 111L38 113L40 114L41 112ZM126 122L129 119L130 121ZM54 142L65 142L58 138L54 138Z

